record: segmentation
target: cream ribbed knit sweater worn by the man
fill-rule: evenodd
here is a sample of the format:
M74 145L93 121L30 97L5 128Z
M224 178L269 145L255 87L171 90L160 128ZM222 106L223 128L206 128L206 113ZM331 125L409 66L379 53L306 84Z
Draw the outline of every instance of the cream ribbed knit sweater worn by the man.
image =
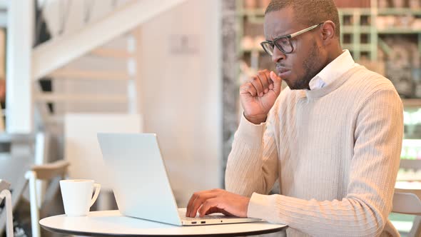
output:
M398 236L387 216L402 133L395 88L356 66L322 89L283 90L265 123L243 117L225 188L288 236ZM268 195L277 179L280 194Z

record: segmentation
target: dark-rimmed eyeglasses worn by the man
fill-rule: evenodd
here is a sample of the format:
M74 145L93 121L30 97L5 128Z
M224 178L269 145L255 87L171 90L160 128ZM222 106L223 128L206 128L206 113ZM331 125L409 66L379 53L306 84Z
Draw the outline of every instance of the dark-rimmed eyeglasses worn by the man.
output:
M293 34L290 34L288 36L280 36L273 41L263 41L260 43L260 45L263 47L266 53L268 53L270 56L273 56L273 49L278 48L280 51L282 51L284 54L290 54L294 51L294 46L291 43L291 39L293 39L295 36L299 36L300 34L303 34L307 31L311 31L312 29L315 29L318 26L321 26L325 22L322 22L320 24L310 26L307 29L303 29L301 31L297 31Z

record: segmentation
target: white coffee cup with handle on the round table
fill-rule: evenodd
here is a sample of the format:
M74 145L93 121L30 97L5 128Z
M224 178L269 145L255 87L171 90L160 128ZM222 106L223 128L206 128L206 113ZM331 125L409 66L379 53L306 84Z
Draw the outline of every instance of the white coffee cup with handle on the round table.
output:
M95 193L92 197L93 188ZM64 212L67 216L86 216L98 198L101 185L93 180L67 179L60 181Z

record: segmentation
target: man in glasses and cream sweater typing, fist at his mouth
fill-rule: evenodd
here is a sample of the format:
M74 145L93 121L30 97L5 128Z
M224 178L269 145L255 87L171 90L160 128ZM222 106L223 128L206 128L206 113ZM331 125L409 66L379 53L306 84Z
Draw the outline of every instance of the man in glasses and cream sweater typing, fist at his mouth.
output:
M387 219L403 133L395 88L341 49L333 0L273 0L264 27L277 74L240 86L227 191L194 193L187 216L263 218L288 236L399 236Z

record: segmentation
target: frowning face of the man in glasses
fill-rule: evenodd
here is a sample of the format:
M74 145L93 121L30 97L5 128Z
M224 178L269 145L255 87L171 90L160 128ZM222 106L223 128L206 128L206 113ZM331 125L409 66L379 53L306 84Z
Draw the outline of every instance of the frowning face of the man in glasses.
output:
M280 36L293 34L308 28L294 20L292 7L272 11L265 16L265 37L273 41ZM300 34L290 39L294 51L284 54L276 46L273 51L272 61L276 64L276 72L290 89L309 89L308 84L315 75L323 69L327 56L320 48L320 27Z

